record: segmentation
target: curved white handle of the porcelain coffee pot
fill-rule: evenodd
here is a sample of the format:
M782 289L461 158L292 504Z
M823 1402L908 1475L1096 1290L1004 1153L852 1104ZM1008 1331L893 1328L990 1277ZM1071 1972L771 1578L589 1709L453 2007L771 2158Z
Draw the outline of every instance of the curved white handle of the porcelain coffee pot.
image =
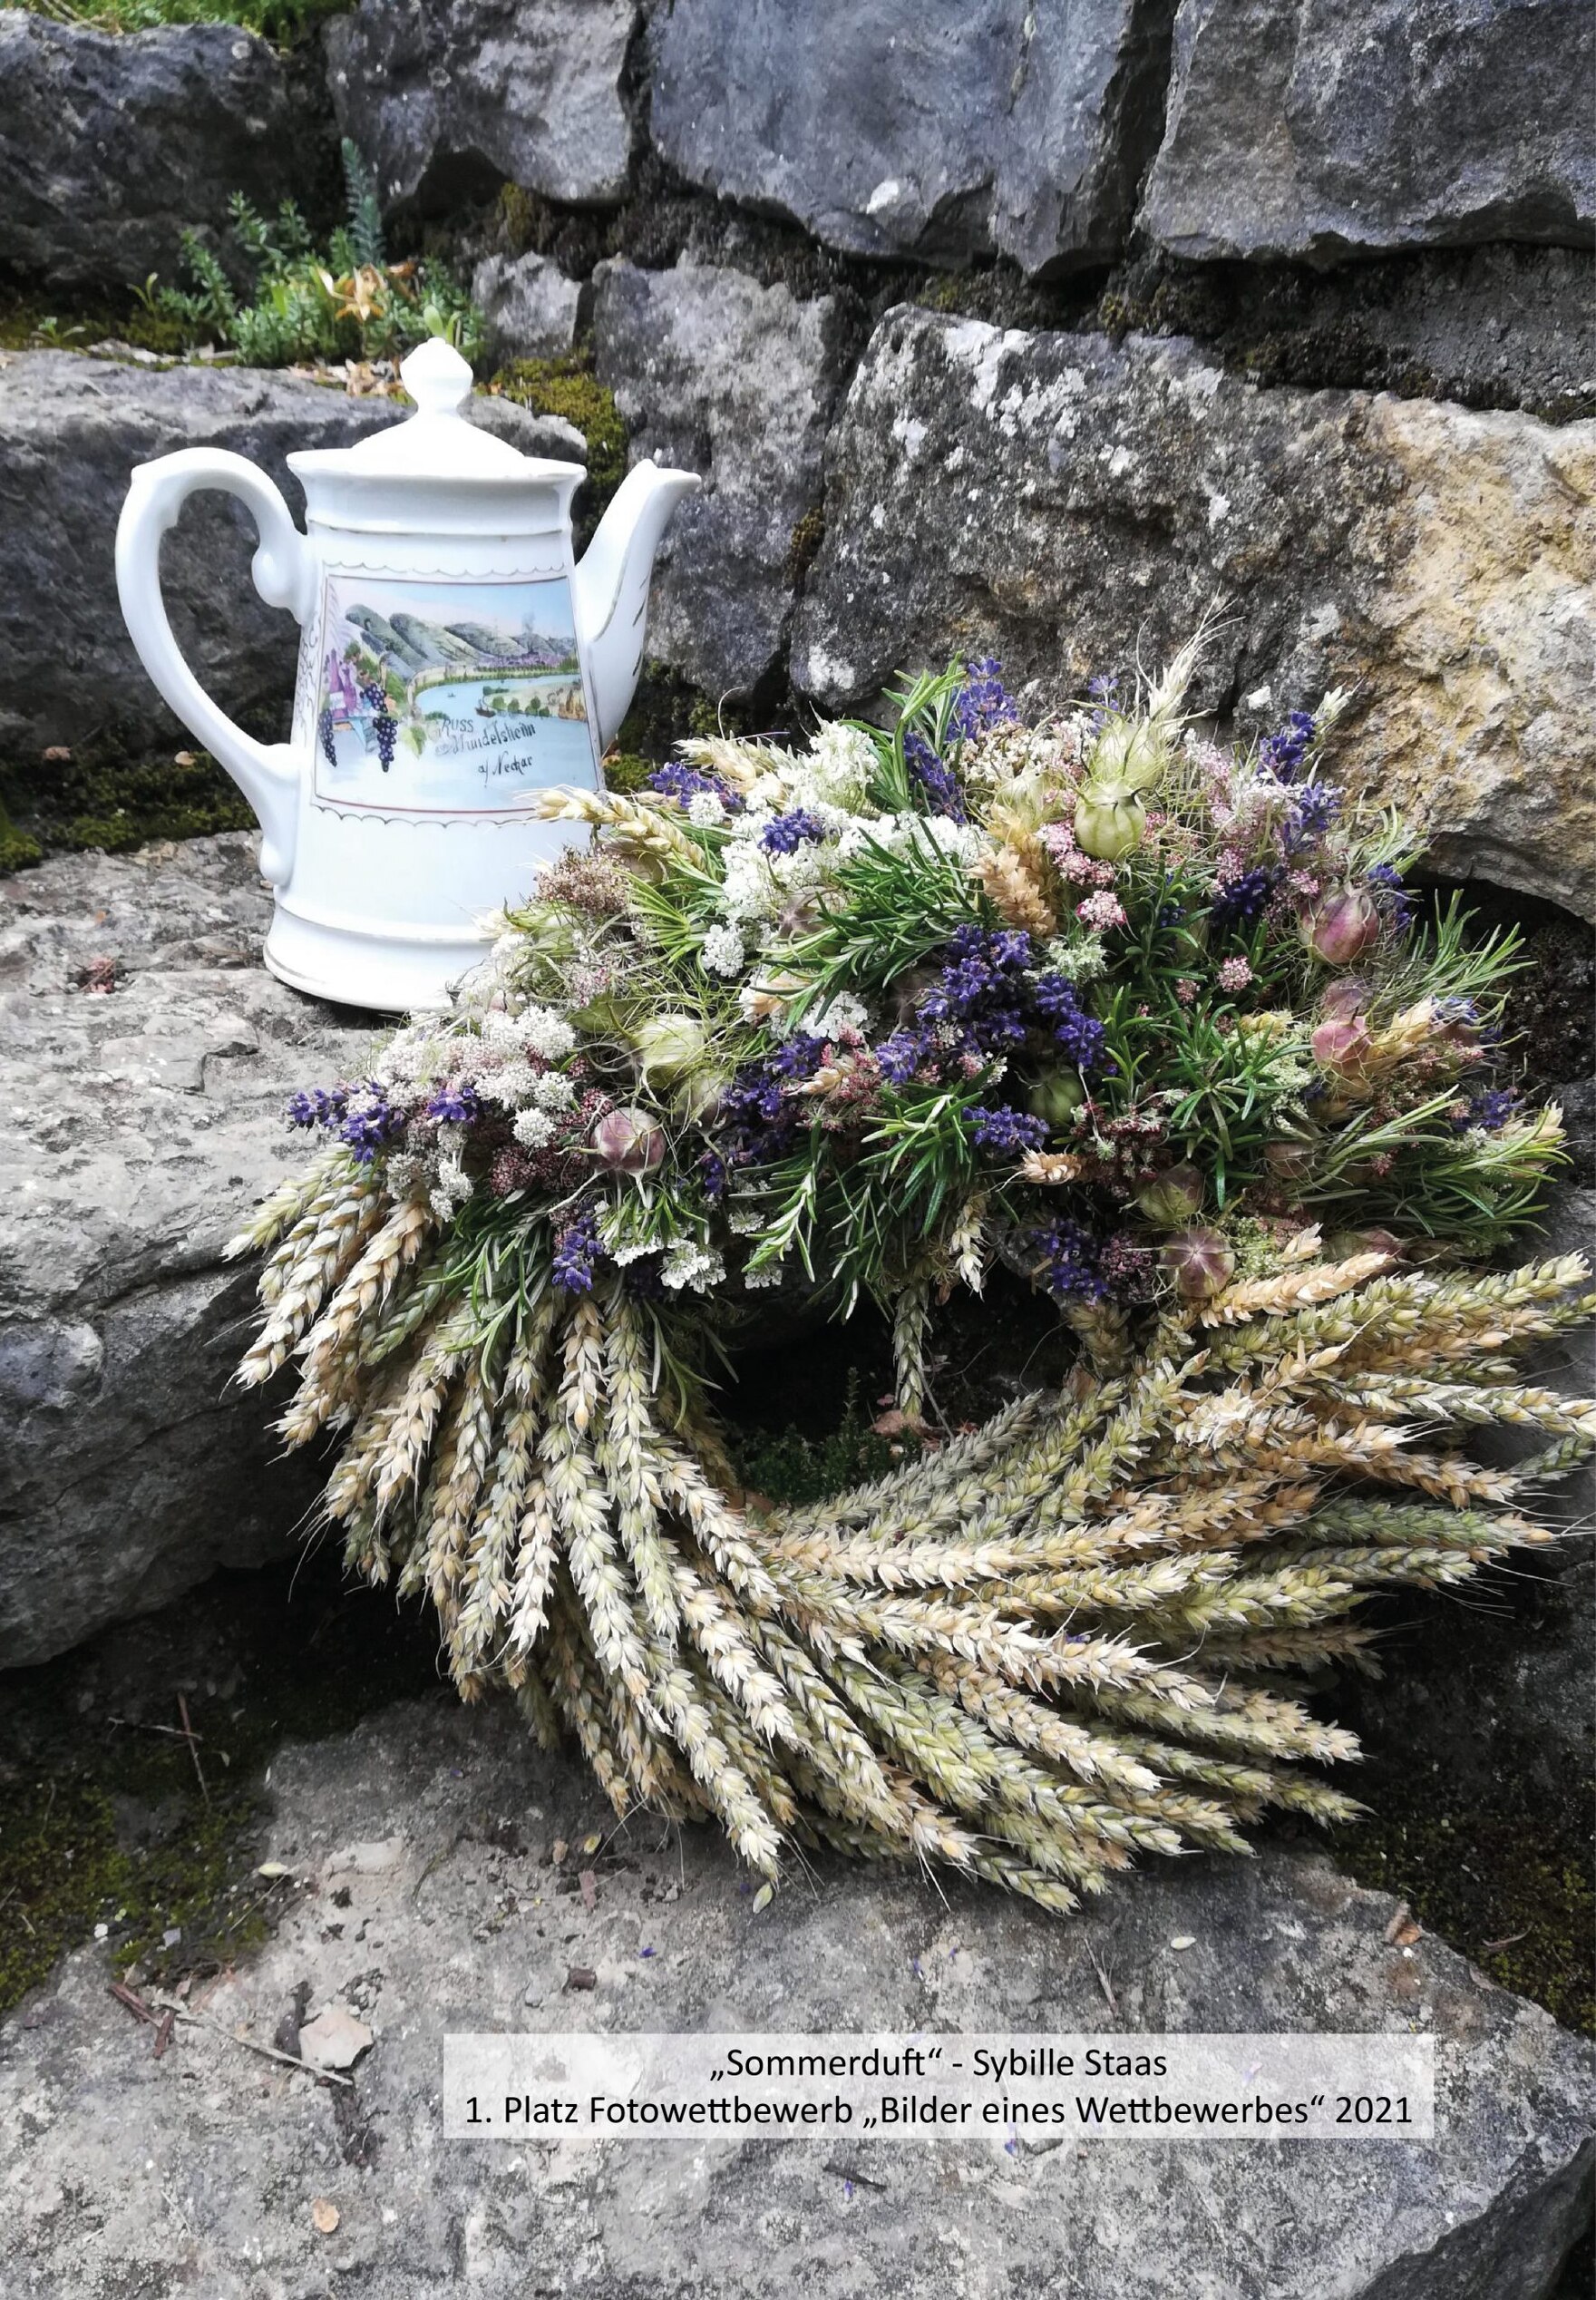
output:
M269 607L287 607L304 623L315 607L315 552L264 471L228 448L186 446L177 455L140 462L117 522L117 598L138 660L161 699L205 743L260 816L260 872L283 885L294 862L299 766L287 743L258 743L209 699L184 662L161 598L161 536L200 488L237 494L255 520L260 545L251 561L255 589Z

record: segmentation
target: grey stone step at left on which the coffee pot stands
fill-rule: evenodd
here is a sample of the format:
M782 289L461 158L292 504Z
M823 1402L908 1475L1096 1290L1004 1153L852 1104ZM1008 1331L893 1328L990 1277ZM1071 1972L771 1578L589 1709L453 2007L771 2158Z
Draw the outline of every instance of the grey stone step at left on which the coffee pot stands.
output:
M0 879L5 1663L281 1552L313 1497L225 1394L253 1276L221 1247L301 1162L287 1092L375 1023L276 982L267 918L244 833Z

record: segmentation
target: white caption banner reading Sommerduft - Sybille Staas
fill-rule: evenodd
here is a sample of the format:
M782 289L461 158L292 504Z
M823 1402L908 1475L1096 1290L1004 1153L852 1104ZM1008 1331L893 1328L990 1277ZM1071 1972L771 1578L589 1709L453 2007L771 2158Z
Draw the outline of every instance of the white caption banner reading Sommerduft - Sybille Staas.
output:
M1428 2035L446 2035L448 2139L1428 2141Z

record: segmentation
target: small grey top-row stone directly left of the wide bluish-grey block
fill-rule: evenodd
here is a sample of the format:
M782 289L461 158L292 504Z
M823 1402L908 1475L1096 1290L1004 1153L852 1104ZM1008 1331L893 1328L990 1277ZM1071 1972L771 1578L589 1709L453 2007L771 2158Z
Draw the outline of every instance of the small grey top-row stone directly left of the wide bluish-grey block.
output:
M635 0L361 0L327 25L327 85L384 207L446 207L506 177L612 205L632 156L635 28Z

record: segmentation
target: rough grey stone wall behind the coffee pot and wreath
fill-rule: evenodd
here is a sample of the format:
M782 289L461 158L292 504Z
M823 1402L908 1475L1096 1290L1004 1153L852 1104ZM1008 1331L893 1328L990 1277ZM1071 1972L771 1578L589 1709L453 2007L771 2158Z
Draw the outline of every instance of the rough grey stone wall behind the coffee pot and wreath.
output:
M1355 683L1348 759L1449 872L1591 911L1594 74L1582 0L361 0L292 57L0 9L0 262L115 292L232 184L320 198L345 131L501 356L589 343L632 455L704 474L651 646L708 697L867 708L961 649L1056 697L1219 607L1214 711ZM11 752L170 731L126 465L379 421L67 366L0 377ZM218 534L179 614L269 720Z

